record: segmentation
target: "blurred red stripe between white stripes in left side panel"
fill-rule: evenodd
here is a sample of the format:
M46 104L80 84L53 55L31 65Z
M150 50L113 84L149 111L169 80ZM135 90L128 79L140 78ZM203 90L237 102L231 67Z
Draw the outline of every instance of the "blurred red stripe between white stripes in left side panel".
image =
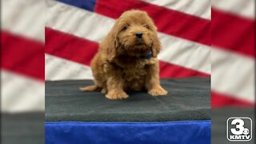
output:
M44 81L44 44L7 31L1 31L1 36L1 67Z

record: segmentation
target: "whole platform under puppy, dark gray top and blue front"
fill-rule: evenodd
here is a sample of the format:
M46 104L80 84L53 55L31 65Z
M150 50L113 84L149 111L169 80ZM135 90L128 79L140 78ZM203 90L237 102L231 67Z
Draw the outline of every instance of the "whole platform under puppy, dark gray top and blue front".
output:
M92 81L46 82L46 143L210 144L210 78L162 79L170 93L108 100Z

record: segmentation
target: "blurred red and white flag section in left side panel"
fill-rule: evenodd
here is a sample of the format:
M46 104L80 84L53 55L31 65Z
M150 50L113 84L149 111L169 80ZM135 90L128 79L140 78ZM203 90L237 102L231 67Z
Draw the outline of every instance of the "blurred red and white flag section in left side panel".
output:
M44 110L44 2L1 1L1 111Z

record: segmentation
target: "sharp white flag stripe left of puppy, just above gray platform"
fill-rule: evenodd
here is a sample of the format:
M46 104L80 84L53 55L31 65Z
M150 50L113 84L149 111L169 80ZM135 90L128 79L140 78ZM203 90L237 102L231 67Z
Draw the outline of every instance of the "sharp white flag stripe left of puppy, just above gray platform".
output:
M89 66L50 54L46 54L45 59L46 80L93 79Z

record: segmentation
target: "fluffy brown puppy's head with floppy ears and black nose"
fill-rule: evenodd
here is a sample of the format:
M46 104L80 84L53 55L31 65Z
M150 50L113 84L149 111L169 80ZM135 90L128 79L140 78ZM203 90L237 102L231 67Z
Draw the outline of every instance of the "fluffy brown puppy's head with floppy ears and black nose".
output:
M153 57L157 57L161 49L154 22L141 10L123 13L107 38L110 61L118 55L140 56L149 52Z

